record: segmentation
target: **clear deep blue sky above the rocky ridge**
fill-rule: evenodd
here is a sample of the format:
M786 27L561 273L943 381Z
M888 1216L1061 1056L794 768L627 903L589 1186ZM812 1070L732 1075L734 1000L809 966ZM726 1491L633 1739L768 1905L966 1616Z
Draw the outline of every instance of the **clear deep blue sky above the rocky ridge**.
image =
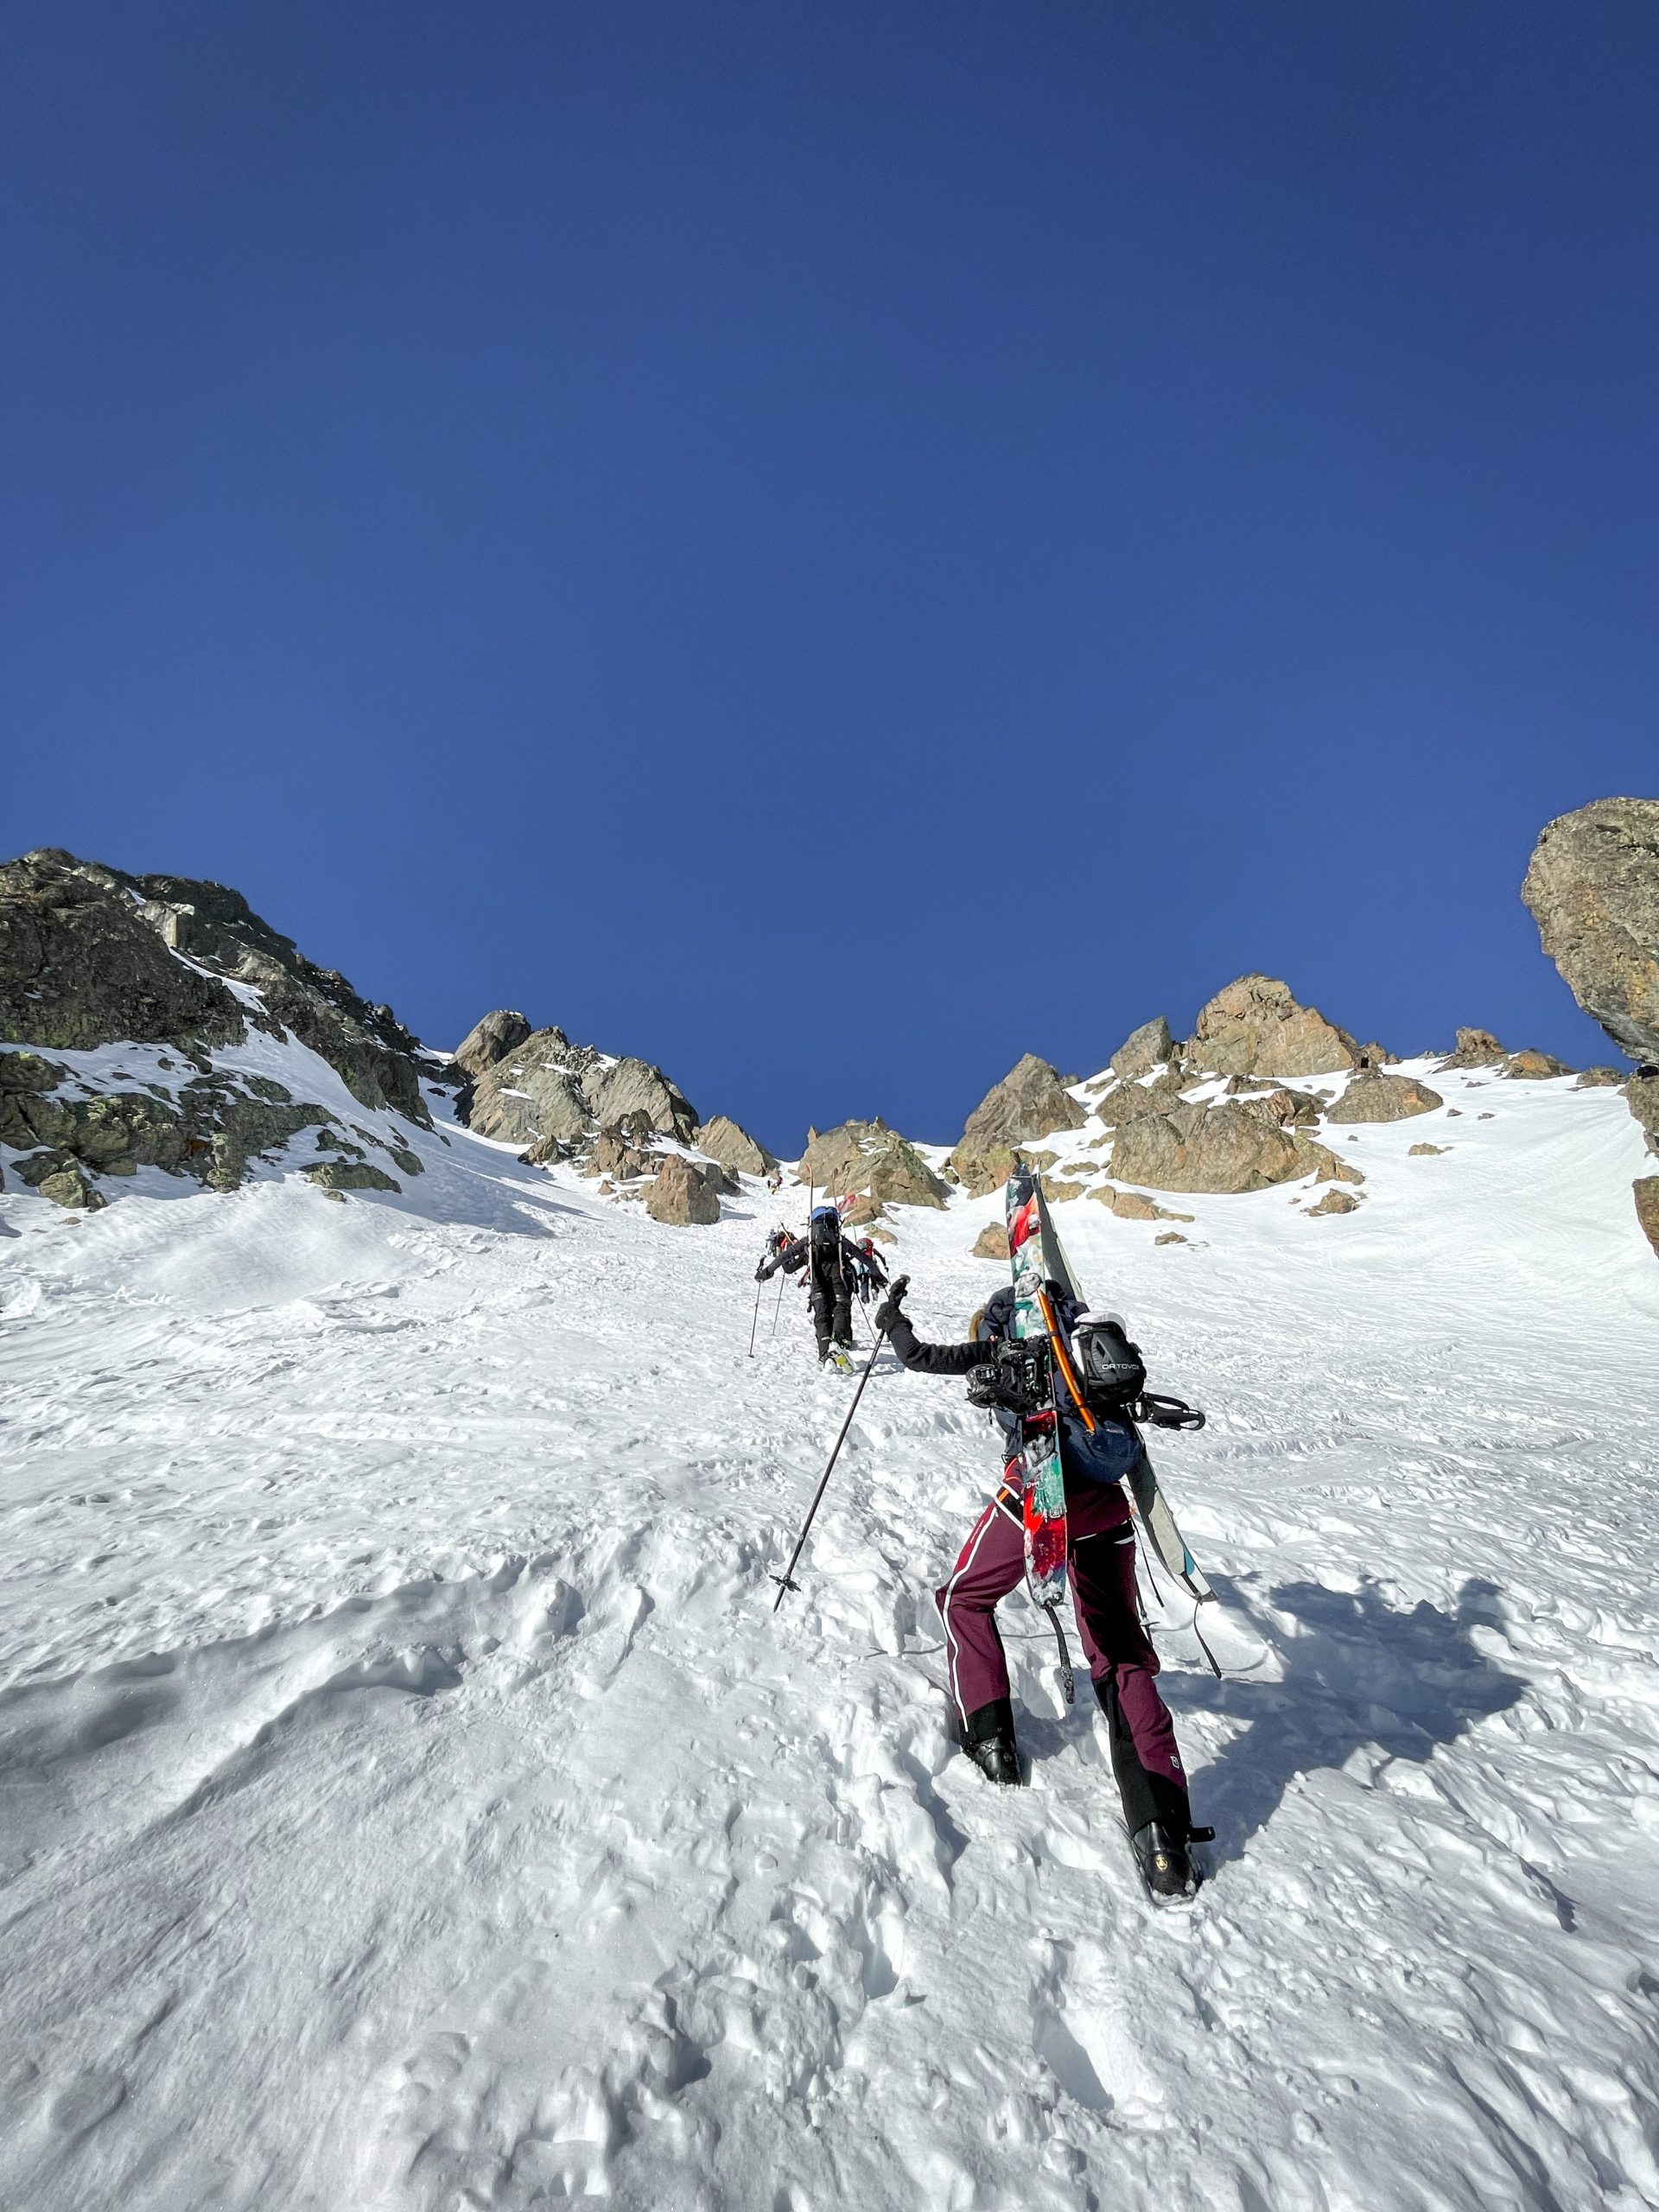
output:
M0 821L951 1137L1243 969L1610 1057L1652 0L0 7Z

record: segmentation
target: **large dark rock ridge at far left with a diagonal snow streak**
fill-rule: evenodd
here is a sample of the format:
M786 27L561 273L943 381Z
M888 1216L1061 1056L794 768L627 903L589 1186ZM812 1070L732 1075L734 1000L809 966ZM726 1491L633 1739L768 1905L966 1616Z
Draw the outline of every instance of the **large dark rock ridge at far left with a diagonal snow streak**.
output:
M208 973L204 973L204 969ZM230 982L252 984L252 1004ZM0 1040L206 1053L292 1031L358 1104L429 1124L420 1044L221 883L128 876L42 849L0 867Z

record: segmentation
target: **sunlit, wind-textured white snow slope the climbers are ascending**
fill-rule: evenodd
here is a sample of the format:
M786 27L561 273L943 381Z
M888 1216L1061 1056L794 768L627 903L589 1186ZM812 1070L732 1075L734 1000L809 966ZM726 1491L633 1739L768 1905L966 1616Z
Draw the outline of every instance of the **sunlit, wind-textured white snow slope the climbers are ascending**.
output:
M792 1290L748 1356L794 1192L659 1228L447 1130L400 1199L0 1199L0 2205L1659 2205L1641 1144L1436 1082L1329 1133L1352 1217L1057 1212L1210 1409L1172 1913L1024 1597L1031 1787L951 1747L960 1385L883 1363L774 1617L852 1387ZM900 1217L925 1334L998 1208Z

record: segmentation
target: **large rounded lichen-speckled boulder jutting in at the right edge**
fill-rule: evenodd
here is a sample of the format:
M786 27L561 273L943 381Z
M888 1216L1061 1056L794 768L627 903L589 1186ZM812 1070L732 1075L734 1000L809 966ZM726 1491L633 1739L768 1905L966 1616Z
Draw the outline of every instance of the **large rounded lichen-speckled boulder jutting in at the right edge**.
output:
M1573 998L1659 1062L1659 799L1597 799L1546 825L1522 885Z

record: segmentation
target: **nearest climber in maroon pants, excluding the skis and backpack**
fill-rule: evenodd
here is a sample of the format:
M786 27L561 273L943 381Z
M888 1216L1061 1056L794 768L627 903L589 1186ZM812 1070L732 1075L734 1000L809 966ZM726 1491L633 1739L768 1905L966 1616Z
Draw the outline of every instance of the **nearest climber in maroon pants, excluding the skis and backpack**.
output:
M1084 1307L1048 1285L1055 1318L1071 1336ZM902 1285L876 1312L876 1327L914 1374L967 1376L987 1369L998 1343L1013 1343L1013 1290L1000 1290L973 1316L964 1345L929 1345L902 1310ZM1133 1349L1133 1347L1130 1347ZM1022 1416L995 1413L1002 1427L1002 1482L969 1531L956 1568L936 1593L945 1619L951 1697L962 1721L962 1750L987 1781L1018 1783L1009 1661L995 1608L1024 1577L1022 1528ZM1199 1887L1188 1845L1206 1829L1192 1827L1186 1770L1175 1743L1170 1710L1157 1690L1157 1652L1135 1604L1135 1533L1119 1478L1141 1453L1133 1422L1093 1416L1093 1431L1075 1413L1060 1416L1060 1464L1066 1482L1066 1566L1071 1568L1077 1628L1082 1630L1095 1697L1106 1714L1113 1774L1124 1801L1124 1825L1135 1863L1155 1900L1190 1898Z

